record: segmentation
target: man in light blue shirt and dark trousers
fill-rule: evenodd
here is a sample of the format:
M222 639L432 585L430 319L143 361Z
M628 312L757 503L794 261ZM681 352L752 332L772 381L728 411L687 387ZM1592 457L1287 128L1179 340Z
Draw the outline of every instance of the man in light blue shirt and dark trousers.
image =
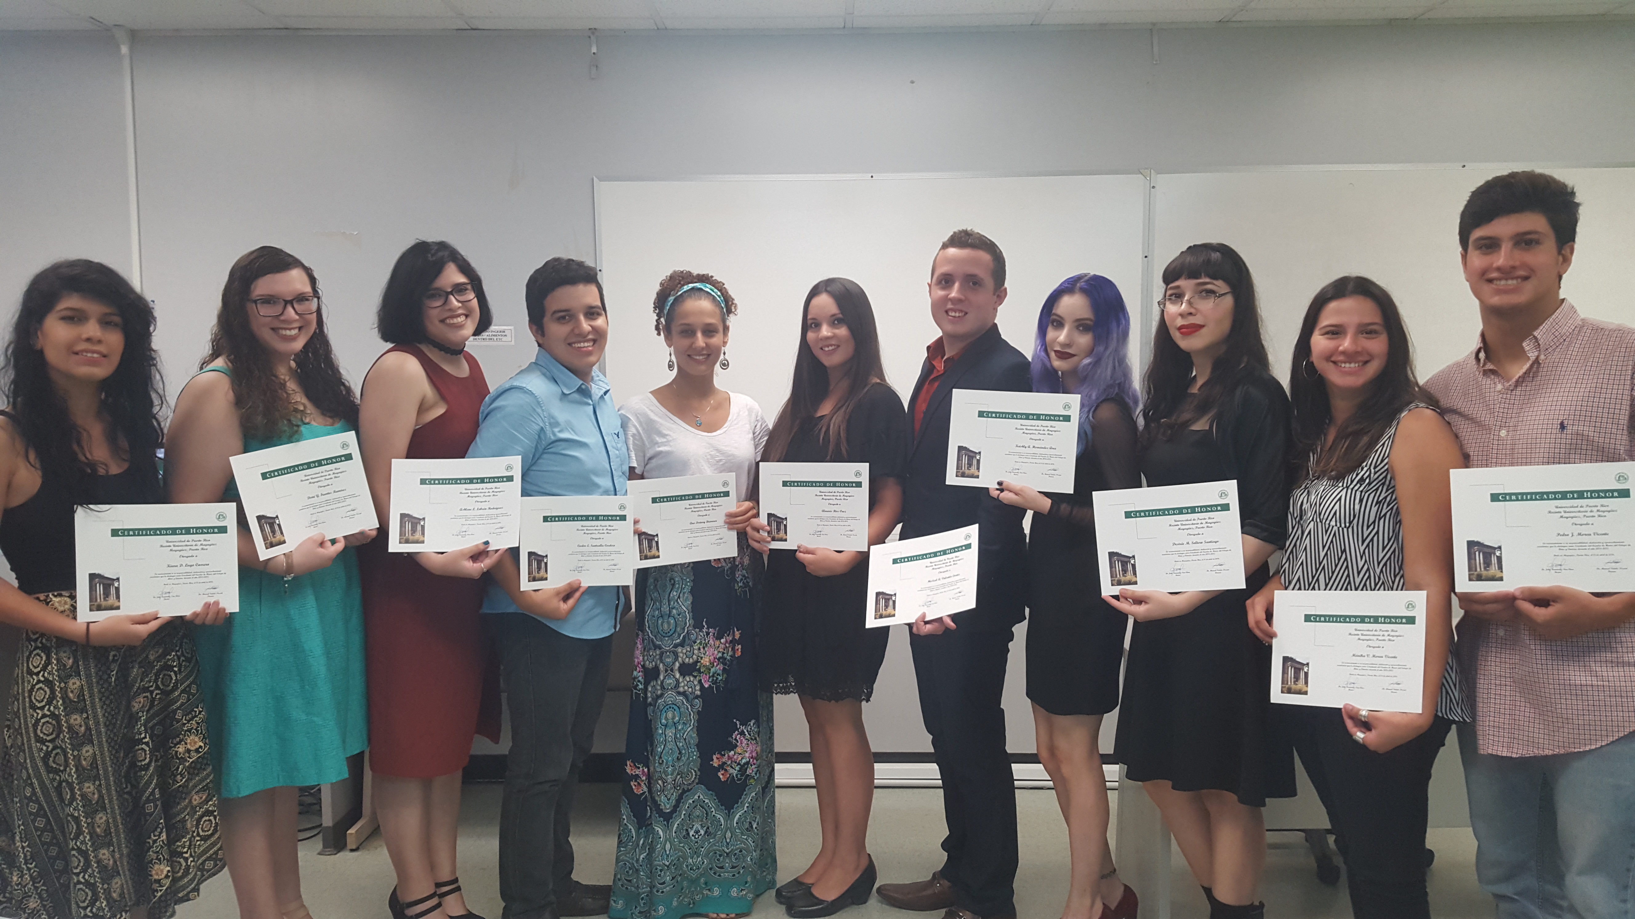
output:
M522 456L523 495L620 495L629 473L625 430L595 368L608 319L597 270L551 258L526 288L540 345L482 402L468 456ZM482 612L500 654L512 746L500 800L504 919L600 916L611 888L574 880L569 811L607 697L618 587L522 590L515 549L490 571Z

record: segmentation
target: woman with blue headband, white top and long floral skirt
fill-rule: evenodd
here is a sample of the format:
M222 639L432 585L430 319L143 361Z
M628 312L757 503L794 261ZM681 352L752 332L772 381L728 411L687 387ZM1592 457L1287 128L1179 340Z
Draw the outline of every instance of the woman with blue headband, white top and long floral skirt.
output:
M613 919L739 916L777 872L772 695L755 672L762 559L744 528L767 445L754 399L716 386L737 303L710 275L670 271L652 299L675 376L626 402L629 477L732 473L737 556L636 572L636 672L625 741Z

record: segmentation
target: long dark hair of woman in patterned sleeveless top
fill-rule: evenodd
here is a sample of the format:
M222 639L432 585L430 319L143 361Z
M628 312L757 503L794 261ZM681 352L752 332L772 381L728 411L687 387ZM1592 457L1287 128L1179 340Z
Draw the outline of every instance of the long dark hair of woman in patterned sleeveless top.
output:
M1367 298L1380 307L1386 343L1385 370L1373 378L1368 397L1357 406L1357 412L1346 419L1334 432L1334 440L1324 445L1328 425L1334 419L1328 381L1321 374L1308 374L1306 361L1311 360L1311 334L1316 332L1323 307L1349 296ZM1359 275L1334 278L1311 298L1306 317L1300 324L1300 337L1295 338L1295 356L1288 370L1288 401L1295 409L1290 464L1292 481L1297 484L1308 477L1349 476L1362 466L1403 409L1414 402L1437 404L1436 396L1426 392L1414 378L1413 342L1408 338L1408 325L1396 309L1396 301L1378 283Z

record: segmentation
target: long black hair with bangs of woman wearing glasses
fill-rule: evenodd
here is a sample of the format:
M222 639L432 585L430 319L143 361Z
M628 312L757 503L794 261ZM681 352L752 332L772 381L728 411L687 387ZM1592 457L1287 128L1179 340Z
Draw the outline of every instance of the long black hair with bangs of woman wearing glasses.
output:
M1215 415L1221 399L1246 376L1272 374L1272 361L1261 340L1261 304L1254 296L1254 276L1236 249L1225 242L1189 245L1164 267L1162 278L1166 289L1182 278L1210 278L1226 285L1233 294L1231 330L1226 332L1226 348L1210 366L1210 378L1198 388L1198 397L1187 402L1192 355L1171 337L1169 324L1159 322L1153 332L1153 363L1146 368L1143 384L1143 445L1166 440L1171 433ZM1182 406L1184 402L1187 404Z

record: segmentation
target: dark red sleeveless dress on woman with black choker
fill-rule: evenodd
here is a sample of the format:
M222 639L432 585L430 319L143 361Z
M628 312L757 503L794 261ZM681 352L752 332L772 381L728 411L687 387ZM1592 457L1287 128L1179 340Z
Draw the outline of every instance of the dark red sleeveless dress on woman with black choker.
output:
M448 409L415 428L410 460L463 460L489 394L482 366L466 355L464 379L415 345L414 355ZM383 355L384 356L384 355ZM435 778L459 772L471 739L500 736L497 661L482 634L482 581L440 577L378 538L358 551L370 675L370 769Z

